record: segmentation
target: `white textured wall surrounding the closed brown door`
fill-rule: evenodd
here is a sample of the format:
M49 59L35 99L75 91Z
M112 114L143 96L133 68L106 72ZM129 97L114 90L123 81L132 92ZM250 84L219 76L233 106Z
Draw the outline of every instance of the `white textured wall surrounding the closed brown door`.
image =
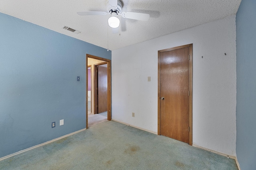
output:
M235 21L230 16L112 51L112 119L157 133L158 50L193 43L193 145L235 156Z

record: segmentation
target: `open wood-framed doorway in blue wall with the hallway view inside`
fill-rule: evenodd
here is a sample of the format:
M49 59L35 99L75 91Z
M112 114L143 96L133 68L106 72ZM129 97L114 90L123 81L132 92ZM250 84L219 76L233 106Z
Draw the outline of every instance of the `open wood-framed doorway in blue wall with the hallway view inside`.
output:
M104 121L104 119L106 120L112 119L111 118L111 72L110 72L111 60L87 54L86 63L87 63L86 128L88 128L88 126L101 123L102 121ZM91 78L90 78L90 75L88 74L89 72L91 72ZM98 78L100 78L100 80ZM90 81L91 81L91 86L90 86ZM102 90L102 91L99 91L99 90ZM103 97L102 97L102 94L103 94ZM103 109L101 108L102 105L104 106ZM104 118L104 116L106 118ZM89 123L88 123L88 119L90 119ZM94 122L94 121L97 121L97 122Z

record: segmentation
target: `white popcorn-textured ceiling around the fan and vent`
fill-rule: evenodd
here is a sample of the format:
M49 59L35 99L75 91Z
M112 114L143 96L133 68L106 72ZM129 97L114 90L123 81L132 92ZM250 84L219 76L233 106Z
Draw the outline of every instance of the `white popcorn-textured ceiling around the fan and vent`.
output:
M106 16L79 16L77 11L104 11L107 0L0 0L0 12L110 50L174 33L236 14L241 0L122 0L122 11L150 14L149 21L120 18L113 34ZM74 34L66 25L81 31Z

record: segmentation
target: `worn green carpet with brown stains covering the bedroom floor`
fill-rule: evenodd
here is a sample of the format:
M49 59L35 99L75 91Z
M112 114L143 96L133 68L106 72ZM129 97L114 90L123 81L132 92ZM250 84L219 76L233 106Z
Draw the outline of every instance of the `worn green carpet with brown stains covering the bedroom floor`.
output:
M225 156L106 121L0 162L1 170L238 170Z

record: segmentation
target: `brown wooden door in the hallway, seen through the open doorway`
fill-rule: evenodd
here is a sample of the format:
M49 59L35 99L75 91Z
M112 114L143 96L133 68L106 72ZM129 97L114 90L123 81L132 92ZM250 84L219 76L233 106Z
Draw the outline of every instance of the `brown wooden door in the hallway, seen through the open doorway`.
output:
M108 111L108 69L98 66L98 113Z

